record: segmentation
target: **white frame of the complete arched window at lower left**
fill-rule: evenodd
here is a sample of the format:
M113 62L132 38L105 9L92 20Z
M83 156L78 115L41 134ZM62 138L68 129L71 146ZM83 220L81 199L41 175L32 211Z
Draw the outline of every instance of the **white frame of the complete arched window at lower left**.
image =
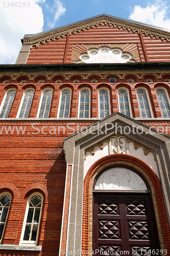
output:
M39 223L38 223L38 229L37 229L37 237L36 237L36 241L27 241L27 240L23 240L23 236L24 236L24 233L25 233L25 228L26 228L26 223L27 223L27 217L28 217L30 200L34 196L40 196L41 199L42 199L41 209L40 209L40 214L39 214ZM33 193L33 194L31 194L29 196L29 198L27 200L27 207L26 207L25 217L24 217L24 220L23 220L23 225L22 225L22 231L21 231L21 237L20 237L19 245L22 245L22 246L23 245L27 245L27 246L28 245L30 245L30 246L36 246L37 245L37 238L38 238L38 234L39 234L39 226L40 226L40 221L41 221L42 205L43 205L43 196L42 196L42 194L36 192L36 193Z

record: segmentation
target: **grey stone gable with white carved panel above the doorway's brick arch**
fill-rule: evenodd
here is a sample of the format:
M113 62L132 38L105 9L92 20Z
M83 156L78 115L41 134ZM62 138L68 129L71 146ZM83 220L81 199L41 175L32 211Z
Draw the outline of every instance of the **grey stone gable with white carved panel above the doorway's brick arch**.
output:
M160 177L157 161L162 158L162 150L168 152L169 142L168 135L117 112L65 138L64 152L66 162L70 164L79 147L84 161L84 177L94 162L113 154L137 157L150 165Z

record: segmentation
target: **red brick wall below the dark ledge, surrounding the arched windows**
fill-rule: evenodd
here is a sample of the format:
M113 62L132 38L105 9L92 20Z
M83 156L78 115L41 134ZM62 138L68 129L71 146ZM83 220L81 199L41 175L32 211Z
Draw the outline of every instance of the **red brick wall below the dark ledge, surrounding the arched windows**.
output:
M152 75L152 74L151 74ZM96 74L94 73L96 77ZM130 75L133 76L133 75ZM163 126L164 131L166 126L170 126L168 120L157 120L157 117L161 116L160 106L156 95L156 87L162 86L169 92L169 83L164 82L162 79L156 79L153 83L147 83L143 79L136 80L134 83L127 82L127 76L124 80L116 83L109 83L106 79L99 79L98 83L91 83L88 80L83 80L80 83L73 83L72 78L65 80L62 83L55 83L53 79L46 77L46 82L38 84L36 83L36 77L34 80L28 81L27 84L17 83L17 80L12 80L8 84L0 83L1 98L0 104L4 98L5 92L9 88L17 88L17 93L12 105L12 109L9 117L14 118L12 120L4 119L1 120L0 131L3 133L1 136L1 150L0 150L0 192L11 191L13 200L9 211L8 223L5 228L3 236L3 244L18 245L20 241L20 234L22 229L23 218L25 216L26 203L30 193L38 191L44 197L43 211L40 223L40 231L37 245L42 245L42 252L40 255L58 255L59 243L60 243L60 232L62 222L62 209L63 209L63 198L64 198L64 187L65 187L65 175L66 175L66 163L63 153L63 139L70 135L72 131L68 129L67 124L72 123L70 126L75 128L79 125L79 129L83 125L89 126L97 120L16 120L19 104L22 98L23 90L29 87L35 88L35 95L31 107L30 117L36 118L38 105L42 90L45 87L51 87L54 90L50 117L56 118L60 92L62 88L70 87L74 89L71 95L71 110L70 117L78 117L78 103L79 103L79 91L82 87L88 87L91 90L91 117L99 117L98 110L98 90L101 87L106 87L110 92L111 100L111 114L119 111L118 108L118 95L117 90L120 87L126 87L129 90L132 114L133 118L140 117L140 110L138 99L136 95L136 89L139 86L143 86L148 90L153 115L155 120L139 120L140 122L149 126L154 126L156 129L158 126ZM40 129L38 135L32 134L37 133L31 126L37 122L36 126ZM13 134L6 134L5 126L8 129L9 125ZM17 134L16 126L22 128L26 126L25 134L21 132ZM46 125L43 134L41 127ZM49 127L56 127L56 134L49 133ZM63 129L58 133L58 126L65 126L65 133ZM68 132L68 133L67 133ZM77 132L77 130L75 130ZM29 134L30 133L30 134ZM167 133L170 135L169 129ZM8 184L7 184L8 183ZM65 239L65 238L63 238ZM20 251L5 251L2 250L0 255L38 255L38 252L24 252Z

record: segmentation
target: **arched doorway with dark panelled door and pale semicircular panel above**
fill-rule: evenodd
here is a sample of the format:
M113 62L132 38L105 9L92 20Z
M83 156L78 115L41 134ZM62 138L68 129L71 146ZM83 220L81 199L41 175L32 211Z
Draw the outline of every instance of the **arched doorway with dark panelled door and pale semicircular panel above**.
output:
M150 187L129 166L109 166L94 180L93 250L100 256L160 252Z

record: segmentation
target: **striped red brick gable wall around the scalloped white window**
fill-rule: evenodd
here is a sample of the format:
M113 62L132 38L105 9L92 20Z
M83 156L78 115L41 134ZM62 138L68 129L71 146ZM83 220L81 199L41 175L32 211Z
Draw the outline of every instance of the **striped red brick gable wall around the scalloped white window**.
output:
M90 28L89 30L81 31L80 33L70 34L68 38L55 39L54 41L45 42L43 45L30 51L27 63L70 63L72 46L74 44L99 44L102 46L109 44L129 44L136 43L140 59L137 61L162 62L170 60L170 43L166 40L151 38L142 34L144 48L141 42L140 35L128 32L127 30L118 29L118 27L109 27L109 25L99 25L98 27ZM66 48L66 51L65 51ZM144 51L146 50L146 53ZM83 52L83 51L82 51ZM148 55L148 59L145 58Z

